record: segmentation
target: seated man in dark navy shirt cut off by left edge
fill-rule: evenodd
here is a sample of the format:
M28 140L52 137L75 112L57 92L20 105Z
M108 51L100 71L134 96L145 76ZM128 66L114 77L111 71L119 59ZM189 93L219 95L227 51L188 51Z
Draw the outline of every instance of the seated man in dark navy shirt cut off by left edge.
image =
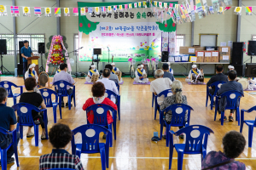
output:
M3 127L5 130L13 131L15 129L16 115L15 110L11 107L5 105L8 99L8 94L5 88L0 88L0 127ZM20 140L20 133L17 132L17 144ZM13 142L12 134L3 134L0 133L0 147L2 149L6 149L9 144ZM17 146L15 146L17 147ZM12 145L9 150L7 150L7 163L13 163L15 158L12 156L14 155L15 150L14 146ZM1 157L1 159L3 159ZM1 162L1 161L0 161ZM0 163L1 164L1 163Z

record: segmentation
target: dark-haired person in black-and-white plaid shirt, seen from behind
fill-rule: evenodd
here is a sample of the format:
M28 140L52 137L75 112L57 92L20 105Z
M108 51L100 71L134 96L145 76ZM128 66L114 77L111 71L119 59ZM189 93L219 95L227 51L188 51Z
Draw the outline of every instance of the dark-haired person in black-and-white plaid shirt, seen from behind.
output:
M49 129L49 142L53 146L50 154L40 156L39 169L70 168L84 170L79 156L71 155L65 150L72 139L72 132L65 124L55 124Z

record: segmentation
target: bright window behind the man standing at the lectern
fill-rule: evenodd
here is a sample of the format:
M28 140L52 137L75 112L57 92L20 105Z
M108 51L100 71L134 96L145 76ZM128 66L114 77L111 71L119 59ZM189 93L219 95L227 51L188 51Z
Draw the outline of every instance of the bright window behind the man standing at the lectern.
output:
M15 38L13 34L0 34L0 39L6 39L7 54L15 54ZM19 42L27 40L33 54L38 54L38 42L44 42L44 34L17 34L16 50L19 53Z

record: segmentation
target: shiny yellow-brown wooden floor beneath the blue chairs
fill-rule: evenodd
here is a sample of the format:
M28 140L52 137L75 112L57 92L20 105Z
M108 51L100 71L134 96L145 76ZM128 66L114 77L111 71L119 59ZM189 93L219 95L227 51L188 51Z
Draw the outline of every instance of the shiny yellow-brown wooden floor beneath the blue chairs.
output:
M1 77L2 81L14 82L17 85L24 85L22 77ZM84 79L75 78L76 84L76 102L77 106L72 107L71 111L67 107L62 108L62 119L60 119L57 110L57 122L69 125L71 129L79 127L86 123L86 114L82 110L82 106L86 99L91 97L90 84L84 84ZM155 131L160 134L159 114L154 120L154 108L152 105L152 93L148 85L132 85L133 80L129 77L123 77L124 84L120 86L121 95L121 120L117 121L117 139L113 140L113 147L110 148L110 159L108 169L139 169L139 170L160 170L168 169L169 148L166 147L166 140L162 139L158 143L152 142L151 138ZM154 78L149 78L152 82ZM213 130L208 138L207 152L211 150L223 150L222 138L224 134L230 130L239 132L240 127L237 122L224 122L224 126L219 121L213 121L214 108L211 111L210 106L206 107L207 86L194 86L185 82L185 78L177 78L183 82L183 95L187 96L188 105L194 111L191 111L190 125L201 124L210 127ZM207 82L209 78L205 79ZM52 77L50 77L52 81ZM50 84L51 86L51 84ZM54 89L54 88L52 88ZM18 92L18 88L14 88L14 93ZM24 88L24 91L26 89ZM249 109L256 105L256 96L245 92L245 97L241 99L240 109ZM18 99L19 101L19 99ZM67 101L67 98L65 99ZM8 99L8 106L13 105L13 99ZM230 114L230 111L226 111ZM220 116L217 116L217 120ZM53 126L53 111L48 109L48 130ZM245 119L254 120L255 114L245 114ZM35 147L34 138L26 139L26 129L24 127L24 137L18 144L18 154L20 167L15 164L8 165L8 169L38 169L39 156L51 153L52 146L49 140L41 141L39 139L38 147ZM173 131L177 131L178 127L172 127ZM41 127L39 127L41 133ZM248 128L243 127L243 135L248 141ZM102 136L100 138L102 141ZM80 136L76 136L76 141L80 141ZM175 137L174 143L183 143L184 140ZM72 153L71 144L68 144L67 151ZM253 147L246 148L236 159L236 161L244 162L248 169L256 169L256 156L253 154L256 150L256 135L253 136ZM174 151L174 159L172 161L172 169L177 169L177 152ZM252 158L252 159L251 159ZM81 155L81 161L84 169L99 170L102 169L100 154ZM184 155L183 170L201 169L201 156Z

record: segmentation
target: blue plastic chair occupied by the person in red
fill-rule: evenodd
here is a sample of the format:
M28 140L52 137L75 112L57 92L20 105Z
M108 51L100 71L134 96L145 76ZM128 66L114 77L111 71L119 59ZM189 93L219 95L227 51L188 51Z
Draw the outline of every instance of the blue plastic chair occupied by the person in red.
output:
M116 111L113 109L113 107L111 107L110 105L104 105L104 104L96 104L96 105L90 105L90 107L88 107L86 110L86 115L87 113L89 113L90 111L93 112L94 115L94 124L96 125L101 125L103 127L107 127L108 126L108 130L109 130L109 144L110 147L112 147L113 145L113 136L114 139L116 140ZM107 112L111 111L112 112L112 116L113 116L113 135L112 135L112 124L108 124L107 121ZM90 122L87 120L87 124L89 124ZM107 135L108 137L108 135Z

